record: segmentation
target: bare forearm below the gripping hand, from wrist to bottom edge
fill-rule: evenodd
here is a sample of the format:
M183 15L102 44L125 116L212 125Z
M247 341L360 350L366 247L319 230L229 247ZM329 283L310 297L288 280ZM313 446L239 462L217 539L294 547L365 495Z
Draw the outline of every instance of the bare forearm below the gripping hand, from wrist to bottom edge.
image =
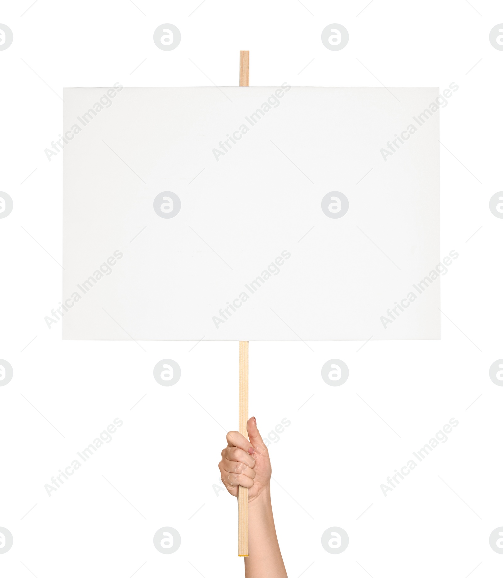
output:
M246 578L287 578L272 516L269 489L249 503Z

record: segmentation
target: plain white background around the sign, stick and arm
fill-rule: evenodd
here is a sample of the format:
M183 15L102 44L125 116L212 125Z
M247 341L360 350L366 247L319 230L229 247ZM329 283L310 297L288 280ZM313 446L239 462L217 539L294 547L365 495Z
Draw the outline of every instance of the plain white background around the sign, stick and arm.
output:
M21 17L29 3L0 17L14 34L0 52L0 189L14 199L0 221L0 357L14 368L0 388L0 527L14 536L2 575L243 575L235 500L212 488L237 426L238 345L62 342L43 320L61 299L61 155L43 150L61 132L62 87L230 86L240 49L252 86L460 86L441 110L441 253L460 254L442 279L442 339L250 345L250 415L263 433L291 421L271 446L289 576L500 575L503 390L488 371L503 357L503 221L488 202L503 188L503 52L488 36L501 6L206 0L189 16L197 1L39 0ZM163 23L182 32L176 50L153 43ZM349 31L341 51L320 41L331 23ZM173 387L153 379L162 358L182 368ZM321 380L331 358L349 366L341 387ZM113 441L47 497L116 417ZM452 417L449 440L385 498L380 484ZM171 555L153 547L163 526L182 536ZM332 526L349 534L339 555L320 544Z

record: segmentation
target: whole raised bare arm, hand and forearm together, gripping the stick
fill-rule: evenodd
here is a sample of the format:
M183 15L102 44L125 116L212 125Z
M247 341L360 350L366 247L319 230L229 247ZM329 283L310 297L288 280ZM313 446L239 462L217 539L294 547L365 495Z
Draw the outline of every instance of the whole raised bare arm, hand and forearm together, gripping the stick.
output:
M248 488L248 556L245 558L246 578L287 578L271 505L271 461L269 452L250 417L248 441L241 433L227 433L227 447L222 450L220 478L233 496L238 486Z

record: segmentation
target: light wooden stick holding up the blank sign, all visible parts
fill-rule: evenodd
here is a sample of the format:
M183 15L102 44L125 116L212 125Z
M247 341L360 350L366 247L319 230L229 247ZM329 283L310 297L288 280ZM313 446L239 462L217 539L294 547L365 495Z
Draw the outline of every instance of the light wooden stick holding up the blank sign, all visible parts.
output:
M250 86L250 51L239 51L239 86ZM248 439L248 342L239 342L239 433ZM248 555L248 488L238 487L238 556Z

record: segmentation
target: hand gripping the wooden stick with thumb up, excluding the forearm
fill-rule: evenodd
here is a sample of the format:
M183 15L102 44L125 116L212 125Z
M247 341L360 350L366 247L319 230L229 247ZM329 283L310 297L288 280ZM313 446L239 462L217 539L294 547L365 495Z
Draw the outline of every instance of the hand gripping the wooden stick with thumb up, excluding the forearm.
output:
M257 420L250 417L247 423L250 441L236 431L227 433L227 447L222 450L219 464L220 479L228 492L238 495L238 486L248 488L248 502L252 502L271 482L271 461L262 436L257 429Z

